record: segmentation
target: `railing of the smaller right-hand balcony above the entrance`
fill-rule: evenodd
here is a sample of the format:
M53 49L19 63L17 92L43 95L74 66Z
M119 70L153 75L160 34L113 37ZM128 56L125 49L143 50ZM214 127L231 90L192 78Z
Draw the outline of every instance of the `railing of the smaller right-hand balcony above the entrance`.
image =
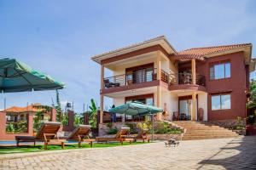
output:
M171 74L170 80L171 85L192 84L192 73ZM200 74L196 74L195 83L197 85L205 86L206 77Z

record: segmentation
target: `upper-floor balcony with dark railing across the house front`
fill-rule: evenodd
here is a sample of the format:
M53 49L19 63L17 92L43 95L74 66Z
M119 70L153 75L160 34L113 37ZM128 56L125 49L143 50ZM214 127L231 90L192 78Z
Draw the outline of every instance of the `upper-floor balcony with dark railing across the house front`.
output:
M192 85L192 74L191 73L177 73L169 74L166 71L160 72L161 82L166 82L169 88L186 88L186 85ZM106 92L113 92L113 89L119 89L119 91L132 89L132 88L145 88L148 86L157 86L159 82L157 80L157 69L156 68L146 68L134 71L132 73L126 73L123 75L118 75L114 77L104 78L104 88L102 89ZM155 83L154 83L155 82ZM196 75L196 85L205 86L206 79L205 76ZM136 86L137 85L137 86ZM180 86L184 85L184 86ZM119 88L126 87L126 88ZM130 87L130 88L129 88Z

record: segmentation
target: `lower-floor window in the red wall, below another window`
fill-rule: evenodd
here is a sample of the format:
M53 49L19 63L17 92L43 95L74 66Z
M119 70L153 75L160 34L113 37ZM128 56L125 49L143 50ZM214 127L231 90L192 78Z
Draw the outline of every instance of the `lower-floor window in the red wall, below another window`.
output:
M212 111L230 109L230 94L212 95Z

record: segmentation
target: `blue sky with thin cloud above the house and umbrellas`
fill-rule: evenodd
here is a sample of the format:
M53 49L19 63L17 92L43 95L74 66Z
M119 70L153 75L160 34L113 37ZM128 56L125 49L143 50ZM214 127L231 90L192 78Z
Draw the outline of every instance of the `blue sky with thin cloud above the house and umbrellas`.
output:
M82 112L90 99L100 100L100 65L92 56L162 35L177 51L256 44L255 7L253 0L0 0L0 58L65 82L61 104L73 102ZM4 98L7 107L52 105L55 91L0 94L0 109Z

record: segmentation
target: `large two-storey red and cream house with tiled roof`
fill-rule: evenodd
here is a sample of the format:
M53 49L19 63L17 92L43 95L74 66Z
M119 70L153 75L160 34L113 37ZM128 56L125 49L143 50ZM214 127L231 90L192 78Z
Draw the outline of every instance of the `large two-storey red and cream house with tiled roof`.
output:
M234 121L246 117L251 43L190 48L178 52L166 37L91 59L101 65L100 122L104 96L113 105L140 101L164 109L157 119ZM104 69L113 77L104 77Z

